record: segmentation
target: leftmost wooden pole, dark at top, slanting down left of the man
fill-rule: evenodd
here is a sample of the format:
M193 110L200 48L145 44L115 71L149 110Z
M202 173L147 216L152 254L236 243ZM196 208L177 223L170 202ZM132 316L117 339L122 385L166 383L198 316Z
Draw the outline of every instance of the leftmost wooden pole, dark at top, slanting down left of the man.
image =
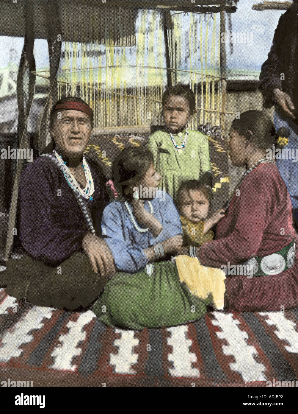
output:
M19 71L17 75L17 100L18 100L18 134L19 134L19 148L29 148L29 142L27 137L27 120L29 117L30 109L34 97L35 88L35 59L33 55L34 46L34 33L33 33L33 1L28 0L25 3L25 36L24 46L21 53L21 59L19 63ZM10 202L10 213L8 220L8 230L5 246L5 260L10 258L10 252L13 245L15 235L15 225L17 218L17 205L18 205L18 193L19 193L19 181L21 171L24 166L24 159L17 159L17 172L14 177L14 184L12 190L12 199Z

